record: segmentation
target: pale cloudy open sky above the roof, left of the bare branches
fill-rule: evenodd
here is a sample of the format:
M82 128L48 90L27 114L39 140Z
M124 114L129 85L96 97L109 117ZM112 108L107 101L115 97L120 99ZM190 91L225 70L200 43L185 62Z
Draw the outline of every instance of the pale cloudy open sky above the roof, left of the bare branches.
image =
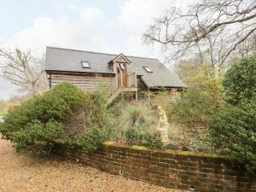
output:
M161 59L158 49L142 44L145 27L171 6L183 9L189 0L0 0L0 47L46 46L84 49ZM17 88L0 79L0 99Z

